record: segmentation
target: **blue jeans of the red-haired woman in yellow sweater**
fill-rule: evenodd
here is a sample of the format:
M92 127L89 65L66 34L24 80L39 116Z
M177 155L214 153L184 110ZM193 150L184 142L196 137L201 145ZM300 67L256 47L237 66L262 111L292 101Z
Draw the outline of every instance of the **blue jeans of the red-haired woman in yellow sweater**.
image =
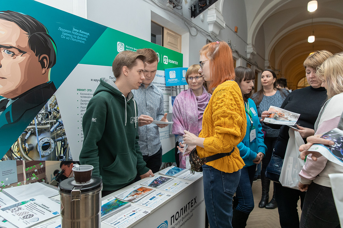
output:
M225 173L209 165L202 166L205 205L211 228L232 228L232 196L240 172Z

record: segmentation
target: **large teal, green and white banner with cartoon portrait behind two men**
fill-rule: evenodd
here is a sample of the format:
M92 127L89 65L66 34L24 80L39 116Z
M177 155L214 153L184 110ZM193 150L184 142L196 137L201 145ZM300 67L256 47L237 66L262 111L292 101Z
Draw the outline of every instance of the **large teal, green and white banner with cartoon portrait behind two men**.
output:
M0 11L0 157L55 94L77 160L87 104L100 78L114 79L112 62L124 50L152 48L158 53L154 83L162 89L168 111L171 90L164 69L182 67L181 53L34 0L3 0ZM170 126L160 130L164 152L175 147L169 132Z

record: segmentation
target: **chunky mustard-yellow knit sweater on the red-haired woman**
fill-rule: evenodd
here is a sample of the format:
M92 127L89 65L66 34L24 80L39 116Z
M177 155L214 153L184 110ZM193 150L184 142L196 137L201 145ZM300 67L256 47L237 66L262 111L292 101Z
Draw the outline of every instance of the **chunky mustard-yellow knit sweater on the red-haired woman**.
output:
M245 164L239 156L237 145L243 140L247 128L242 93L235 81L226 81L217 86L202 118L199 137L205 138L204 148L197 146L200 158L216 153L230 156L206 163L225 173L240 170Z

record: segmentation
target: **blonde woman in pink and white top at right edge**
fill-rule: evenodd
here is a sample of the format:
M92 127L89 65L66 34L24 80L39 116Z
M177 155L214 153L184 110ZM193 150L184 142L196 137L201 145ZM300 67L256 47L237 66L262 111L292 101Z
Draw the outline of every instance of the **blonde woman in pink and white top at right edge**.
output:
M320 134L316 135L318 137L334 128L343 130L343 53L337 53L324 61L317 69L317 76L323 81L321 85L327 89L328 94L328 101L320 110L315 124L316 134ZM312 144L308 143L303 146L309 148L310 145ZM301 147L301 150L303 149ZM307 190L300 228L340 226L331 191L330 173L343 173L343 166L328 161L323 156L317 161L311 156L307 157L299 173L299 190Z

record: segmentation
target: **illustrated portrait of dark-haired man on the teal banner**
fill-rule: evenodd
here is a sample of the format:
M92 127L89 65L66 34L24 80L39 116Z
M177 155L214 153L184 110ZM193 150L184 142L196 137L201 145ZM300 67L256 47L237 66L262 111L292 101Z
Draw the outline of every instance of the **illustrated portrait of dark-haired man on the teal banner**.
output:
M0 96L4 97L0 99L0 133L5 134L4 125L13 128L33 120L56 92L50 69L57 49L47 28L35 18L0 11L0 52Z

